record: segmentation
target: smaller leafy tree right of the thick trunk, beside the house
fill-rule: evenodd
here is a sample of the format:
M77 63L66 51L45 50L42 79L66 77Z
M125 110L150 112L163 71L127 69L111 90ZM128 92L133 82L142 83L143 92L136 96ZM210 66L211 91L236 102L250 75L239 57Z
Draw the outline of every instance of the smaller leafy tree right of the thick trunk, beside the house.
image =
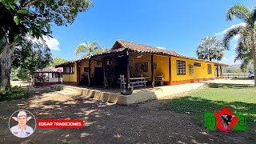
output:
M22 71L28 71L29 74L33 74L34 70L48 66L52 61L50 49L46 43L35 41L32 38L23 38L22 41L18 42L13 58L12 66L14 68L20 67Z

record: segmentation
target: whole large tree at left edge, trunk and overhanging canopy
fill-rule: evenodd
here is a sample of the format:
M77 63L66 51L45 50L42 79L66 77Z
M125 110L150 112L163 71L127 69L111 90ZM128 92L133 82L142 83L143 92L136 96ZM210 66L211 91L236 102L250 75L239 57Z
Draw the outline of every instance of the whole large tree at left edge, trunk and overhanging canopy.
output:
M10 85L11 57L21 38L50 36L50 22L67 26L91 6L90 0L0 0L0 89Z

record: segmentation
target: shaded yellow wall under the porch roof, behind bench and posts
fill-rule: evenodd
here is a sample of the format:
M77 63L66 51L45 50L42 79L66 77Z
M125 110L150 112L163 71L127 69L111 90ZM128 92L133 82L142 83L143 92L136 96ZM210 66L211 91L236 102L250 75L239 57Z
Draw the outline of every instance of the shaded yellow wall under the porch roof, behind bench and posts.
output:
M142 58L137 58L142 55ZM133 77L150 77L151 80L151 54L130 54L130 75ZM148 62L148 72L136 72L135 64L137 62ZM169 78L169 57L154 55L154 62L157 63L157 69L154 70L154 76L163 75L164 81L170 81Z

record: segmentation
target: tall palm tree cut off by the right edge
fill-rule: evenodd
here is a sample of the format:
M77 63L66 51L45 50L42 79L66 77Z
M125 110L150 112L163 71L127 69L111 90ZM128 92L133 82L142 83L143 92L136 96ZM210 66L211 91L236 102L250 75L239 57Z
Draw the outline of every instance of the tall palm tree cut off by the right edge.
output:
M224 47L226 50L230 50L230 40L235 36L239 36L238 45L236 47L237 55L234 58L234 62L241 60L241 68L246 68L250 62L254 62L254 74L256 74L256 9L250 11L243 5L232 6L227 10L226 20L232 21L234 17L242 20L244 23L227 30L223 38ZM254 86L256 86L256 77L254 77Z

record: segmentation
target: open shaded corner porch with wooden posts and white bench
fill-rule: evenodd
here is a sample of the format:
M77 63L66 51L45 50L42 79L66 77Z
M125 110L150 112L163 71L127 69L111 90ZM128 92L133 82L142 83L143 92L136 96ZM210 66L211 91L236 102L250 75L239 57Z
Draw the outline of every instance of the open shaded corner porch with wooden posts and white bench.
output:
M77 73L78 86L122 90L164 86L170 82L170 56L126 49L78 60Z

